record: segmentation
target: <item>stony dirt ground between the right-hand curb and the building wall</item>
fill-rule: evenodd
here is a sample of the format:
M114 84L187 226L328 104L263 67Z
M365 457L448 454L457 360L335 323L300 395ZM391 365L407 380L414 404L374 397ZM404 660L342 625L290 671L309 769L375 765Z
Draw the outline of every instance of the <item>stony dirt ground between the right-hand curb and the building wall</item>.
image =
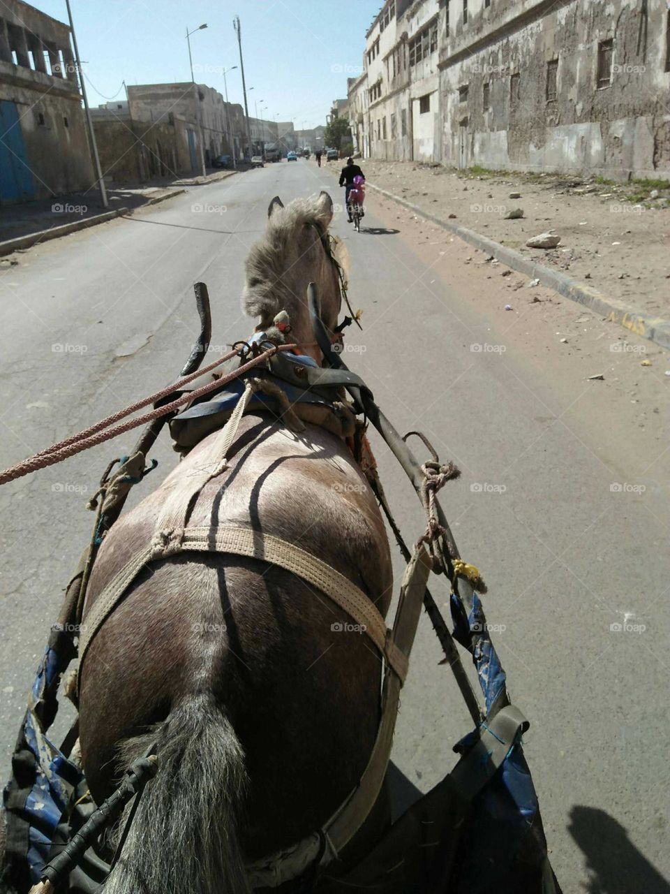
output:
M670 188L662 181L615 184L412 162L365 161L363 169L368 182L432 215L589 281L634 309L670 317ZM510 198L514 193L520 198ZM507 220L516 209L523 218ZM557 249L526 248L526 240L548 231L561 237Z

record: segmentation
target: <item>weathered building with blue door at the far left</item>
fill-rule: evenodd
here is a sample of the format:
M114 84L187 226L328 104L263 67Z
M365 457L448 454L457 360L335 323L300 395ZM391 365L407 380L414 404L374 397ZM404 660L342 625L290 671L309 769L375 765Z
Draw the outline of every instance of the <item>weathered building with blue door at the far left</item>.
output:
M0 4L0 204L95 183L70 29L21 0Z

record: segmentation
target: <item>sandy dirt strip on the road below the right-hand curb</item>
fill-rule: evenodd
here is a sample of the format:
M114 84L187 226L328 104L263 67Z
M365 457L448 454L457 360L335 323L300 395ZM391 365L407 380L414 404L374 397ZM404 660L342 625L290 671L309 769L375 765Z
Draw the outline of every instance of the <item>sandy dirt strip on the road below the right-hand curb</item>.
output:
M366 206L414 247L425 261L426 282L431 283L431 272L446 277L488 317L488 337L504 333L515 356L526 358L529 376L539 366L571 412L583 414L584 426L601 427L602 437L590 444L597 456L609 462L616 443L630 468L646 473L643 457L662 449L670 435L666 350L551 289L529 286L528 277L487 260L483 251L374 190L368 191ZM356 306L356 289L352 299ZM582 401L592 388L601 395L595 410ZM653 486L666 493L660 478Z

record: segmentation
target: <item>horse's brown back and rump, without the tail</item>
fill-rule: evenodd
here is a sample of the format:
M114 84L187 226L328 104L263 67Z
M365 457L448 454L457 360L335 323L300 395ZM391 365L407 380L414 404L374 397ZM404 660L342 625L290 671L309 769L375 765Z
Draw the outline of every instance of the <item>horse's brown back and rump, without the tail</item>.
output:
M208 443L114 526L87 610L153 536L157 515ZM224 525L313 553L385 611L390 560L379 511L347 447L322 429L295 435L245 417L230 468L204 486L188 517L188 527ZM347 634L347 621L314 586L265 561L183 552L152 563L105 620L84 665L81 739L91 790L108 789L121 739L206 691L225 706L247 755L251 856L316 828L323 805L335 809L360 778L379 719L379 656L366 637Z

